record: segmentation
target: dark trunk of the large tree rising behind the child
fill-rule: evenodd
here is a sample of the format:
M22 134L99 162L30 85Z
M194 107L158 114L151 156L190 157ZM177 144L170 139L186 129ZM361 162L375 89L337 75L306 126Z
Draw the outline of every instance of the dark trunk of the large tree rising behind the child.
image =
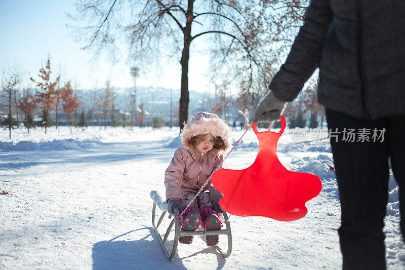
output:
M190 60L190 44L191 44L191 23L193 14L193 3L194 0L188 0L187 7L187 22L184 27L184 47L181 55L181 91L180 91L180 107L179 107L179 127L180 130L184 128L184 124L188 119L188 103L189 92L188 92L188 62Z

